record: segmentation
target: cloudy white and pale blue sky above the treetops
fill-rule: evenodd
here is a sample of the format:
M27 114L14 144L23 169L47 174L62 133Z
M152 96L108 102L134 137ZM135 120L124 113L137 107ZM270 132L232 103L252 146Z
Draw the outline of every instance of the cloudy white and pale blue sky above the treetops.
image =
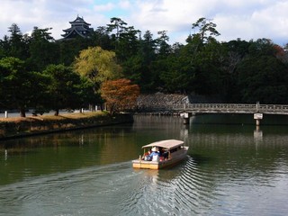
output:
M58 40L79 15L96 29L121 18L136 30L167 31L169 42L185 43L192 24L206 18L217 25L219 41L270 39L288 43L288 0L0 0L0 39L16 23L23 33L52 28Z

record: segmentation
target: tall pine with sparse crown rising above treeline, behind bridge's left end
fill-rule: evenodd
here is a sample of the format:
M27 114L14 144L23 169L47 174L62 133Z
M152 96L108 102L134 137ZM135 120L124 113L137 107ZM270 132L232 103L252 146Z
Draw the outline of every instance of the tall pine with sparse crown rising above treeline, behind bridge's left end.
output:
M200 18L193 23L197 31L187 38L183 50L187 57L184 64L189 66L189 89L196 94L220 94L224 91L223 71L221 70L223 49L215 39L220 33L215 29L216 24L206 18ZM186 76L188 77L188 76Z

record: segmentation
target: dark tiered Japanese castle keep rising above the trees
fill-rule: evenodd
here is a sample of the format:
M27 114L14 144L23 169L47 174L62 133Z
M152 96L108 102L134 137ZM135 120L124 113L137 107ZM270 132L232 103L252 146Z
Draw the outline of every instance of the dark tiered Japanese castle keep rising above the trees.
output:
M83 17L81 18L78 15L75 21L69 23L71 24L71 28L63 30L65 34L61 34L64 37L61 40L74 39L76 37L89 38L94 31L93 28L89 27L91 24L85 23Z

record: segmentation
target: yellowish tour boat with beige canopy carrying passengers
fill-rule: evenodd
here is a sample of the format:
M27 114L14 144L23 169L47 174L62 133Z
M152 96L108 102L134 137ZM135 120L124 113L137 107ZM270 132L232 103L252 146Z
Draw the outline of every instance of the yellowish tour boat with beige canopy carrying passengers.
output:
M144 154L139 155L139 159L132 160L133 168L160 169L175 165L186 157L189 147L184 146L184 141L166 139L142 148Z

